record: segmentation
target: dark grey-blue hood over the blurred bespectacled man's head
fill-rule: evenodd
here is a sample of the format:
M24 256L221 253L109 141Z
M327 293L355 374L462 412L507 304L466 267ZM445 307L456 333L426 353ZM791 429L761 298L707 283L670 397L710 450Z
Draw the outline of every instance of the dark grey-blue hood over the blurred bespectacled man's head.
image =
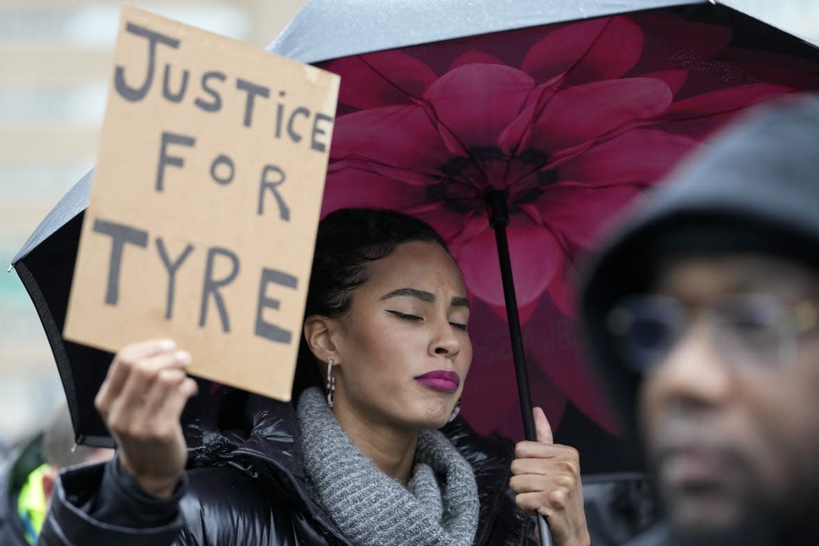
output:
M622 296L645 291L664 256L756 252L819 270L819 96L749 112L623 218L587 270L580 312L612 406L634 432L640 376L606 320Z

